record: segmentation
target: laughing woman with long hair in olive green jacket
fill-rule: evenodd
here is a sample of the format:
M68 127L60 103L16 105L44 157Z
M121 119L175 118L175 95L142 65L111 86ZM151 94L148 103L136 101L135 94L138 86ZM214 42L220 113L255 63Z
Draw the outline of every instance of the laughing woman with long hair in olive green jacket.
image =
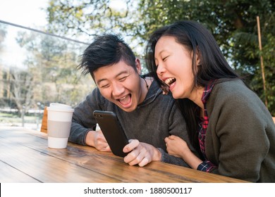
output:
M275 125L259 97L228 65L199 23L161 27L149 39L147 68L176 98L197 158L178 136L167 151L190 167L249 182L275 182Z

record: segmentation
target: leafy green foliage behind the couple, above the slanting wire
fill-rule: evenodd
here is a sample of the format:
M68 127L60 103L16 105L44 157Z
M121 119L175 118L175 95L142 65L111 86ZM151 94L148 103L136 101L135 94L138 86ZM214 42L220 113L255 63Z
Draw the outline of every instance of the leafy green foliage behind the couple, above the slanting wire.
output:
M275 116L274 0L114 0L50 1L49 30L90 39L96 34L122 34L138 56L144 57L146 40L157 27L177 20L196 20L216 38L224 56L252 89L264 99L259 61L257 20L262 27L262 56L267 73L268 108ZM118 3L117 3L118 4ZM90 36L90 37L87 37ZM263 100L264 101L264 100Z

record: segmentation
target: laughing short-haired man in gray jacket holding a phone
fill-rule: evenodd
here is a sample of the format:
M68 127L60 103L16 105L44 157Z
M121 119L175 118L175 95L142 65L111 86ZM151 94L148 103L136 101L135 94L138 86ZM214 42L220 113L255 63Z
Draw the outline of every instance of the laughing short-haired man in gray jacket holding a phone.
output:
M111 151L102 132L96 132L94 110L116 113L130 143L124 161L144 166L152 160L188 167L181 158L166 153L164 139L188 135L185 121L171 95L162 94L157 82L140 76L140 61L123 39L114 34L97 37L85 49L78 68L90 73L97 88L75 107L69 141ZM190 146L192 148L192 146Z

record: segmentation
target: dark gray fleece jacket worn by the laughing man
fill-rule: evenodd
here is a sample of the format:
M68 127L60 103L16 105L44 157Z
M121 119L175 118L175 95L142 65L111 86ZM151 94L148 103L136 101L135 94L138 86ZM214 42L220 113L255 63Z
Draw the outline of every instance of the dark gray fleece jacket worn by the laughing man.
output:
M94 89L91 94L87 95L85 101L75 107L69 141L86 145L87 132L94 129L97 123L92 114L94 110L109 110L116 113L128 139L138 139L159 148L162 162L189 167L181 158L166 153L164 138L171 134L180 136L191 147L193 153L195 151L190 145L181 111L176 107L170 94L162 94L157 82L152 82L145 101L130 113L106 100L100 94L99 89Z

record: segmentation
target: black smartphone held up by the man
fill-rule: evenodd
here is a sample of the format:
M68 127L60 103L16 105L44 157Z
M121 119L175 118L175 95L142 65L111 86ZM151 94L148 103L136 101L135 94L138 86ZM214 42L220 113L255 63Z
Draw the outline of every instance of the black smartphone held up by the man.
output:
M116 114L111 111L94 110L94 118L102 129L102 133L108 142L114 155L125 157L128 153L123 153L123 148L129 141L124 133Z

